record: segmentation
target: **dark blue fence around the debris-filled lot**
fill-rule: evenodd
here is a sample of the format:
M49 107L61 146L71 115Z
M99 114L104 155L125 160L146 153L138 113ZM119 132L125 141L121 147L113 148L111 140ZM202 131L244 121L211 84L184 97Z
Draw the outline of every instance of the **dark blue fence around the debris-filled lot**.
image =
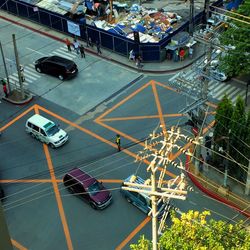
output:
M222 4L223 0L218 0L213 5L221 6ZM74 22L80 26L80 39L86 41L90 37L94 43L99 41L101 47L126 57L128 57L129 51L133 49L137 53L140 53L144 62L163 61L165 59L165 46L170 42L171 38L180 31L187 31L189 29L189 21L187 21L174 30L174 32L168 34L159 43L137 43L122 35L110 33L92 25L80 24L69 17L18 0L0 0L0 9L63 32L69 36L72 36L72 34L68 31L67 22ZM203 18L204 11L194 17L194 25L201 23Z

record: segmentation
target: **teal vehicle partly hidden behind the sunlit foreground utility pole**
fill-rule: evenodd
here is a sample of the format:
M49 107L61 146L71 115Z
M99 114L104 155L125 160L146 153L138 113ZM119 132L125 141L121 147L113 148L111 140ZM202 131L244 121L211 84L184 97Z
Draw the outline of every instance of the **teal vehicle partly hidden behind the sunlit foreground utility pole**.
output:
M140 176L135 176L135 175L129 176L128 178L124 180L124 182L145 184L145 180L143 180ZM125 186L124 182L122 183L121 189L120 189L122 195L127 199L129 203L138 207L145 214L150 215L150 212L151 212L150 196L142 192L138 193L138 192L133 192L133 191L122 189L122 187ZM149 186L149 190L150 190L150 186ZM170 208L171 206L170 206L169 200L167 200L166 202L160 201L158 203L158 209L157 209L159 211L158 219L160 219L163 216L164 211L169 212Z

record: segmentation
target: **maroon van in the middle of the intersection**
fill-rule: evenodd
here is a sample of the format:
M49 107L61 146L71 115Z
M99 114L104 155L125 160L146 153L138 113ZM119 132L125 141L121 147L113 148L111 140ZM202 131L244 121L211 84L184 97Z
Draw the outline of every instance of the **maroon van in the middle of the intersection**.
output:
M104 209L112 202L112 195L101 182L79 168L70 170L63 178L71 193L86 200L94 209Z

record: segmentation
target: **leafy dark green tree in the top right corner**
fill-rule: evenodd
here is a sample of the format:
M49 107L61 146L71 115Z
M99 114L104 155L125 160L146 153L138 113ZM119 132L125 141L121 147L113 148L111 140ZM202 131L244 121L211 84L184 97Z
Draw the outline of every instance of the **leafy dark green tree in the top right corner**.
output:
M229 27L220 38L224 46L235 47L235 49L229 49L226 55L220 58L219 68L229 77L250 72L250 24L249 19L243 17L250 17L250 0L245 0L236 12L242 16L234 14L228 16L241 21L228 18Z

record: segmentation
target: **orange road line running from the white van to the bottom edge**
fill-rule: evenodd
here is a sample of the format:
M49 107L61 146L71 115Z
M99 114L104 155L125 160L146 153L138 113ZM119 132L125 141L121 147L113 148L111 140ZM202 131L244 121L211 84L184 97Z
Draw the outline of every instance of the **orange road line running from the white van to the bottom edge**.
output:
M51 176L52 185L53 185L53 189L54 189L54 192L55 192L57 206L58 206L59 214L60 214L60 217L61 217L61 222L62 222L62 225L63 225L63 230L64 230L64 234L65 234L65 237L66 237L68 249L73 250L73 245L72 245L72 241L71 241L71 237L70 237L70 233L69 233L69 228L68 228L66 216L65 216L65 213L64 213L64 209L63 209L62 198L60 196L60 192L59 192L59 189L58 189L58 186L57 186L54 167L53 167L53 164L52 164L52 160L51 160L51 157L50 157L48 146L46 144L43 144L43 149L44 149L44 153L45 153L45 156L46 156L46 159L47 159L49 173L50 173L50 176Z

